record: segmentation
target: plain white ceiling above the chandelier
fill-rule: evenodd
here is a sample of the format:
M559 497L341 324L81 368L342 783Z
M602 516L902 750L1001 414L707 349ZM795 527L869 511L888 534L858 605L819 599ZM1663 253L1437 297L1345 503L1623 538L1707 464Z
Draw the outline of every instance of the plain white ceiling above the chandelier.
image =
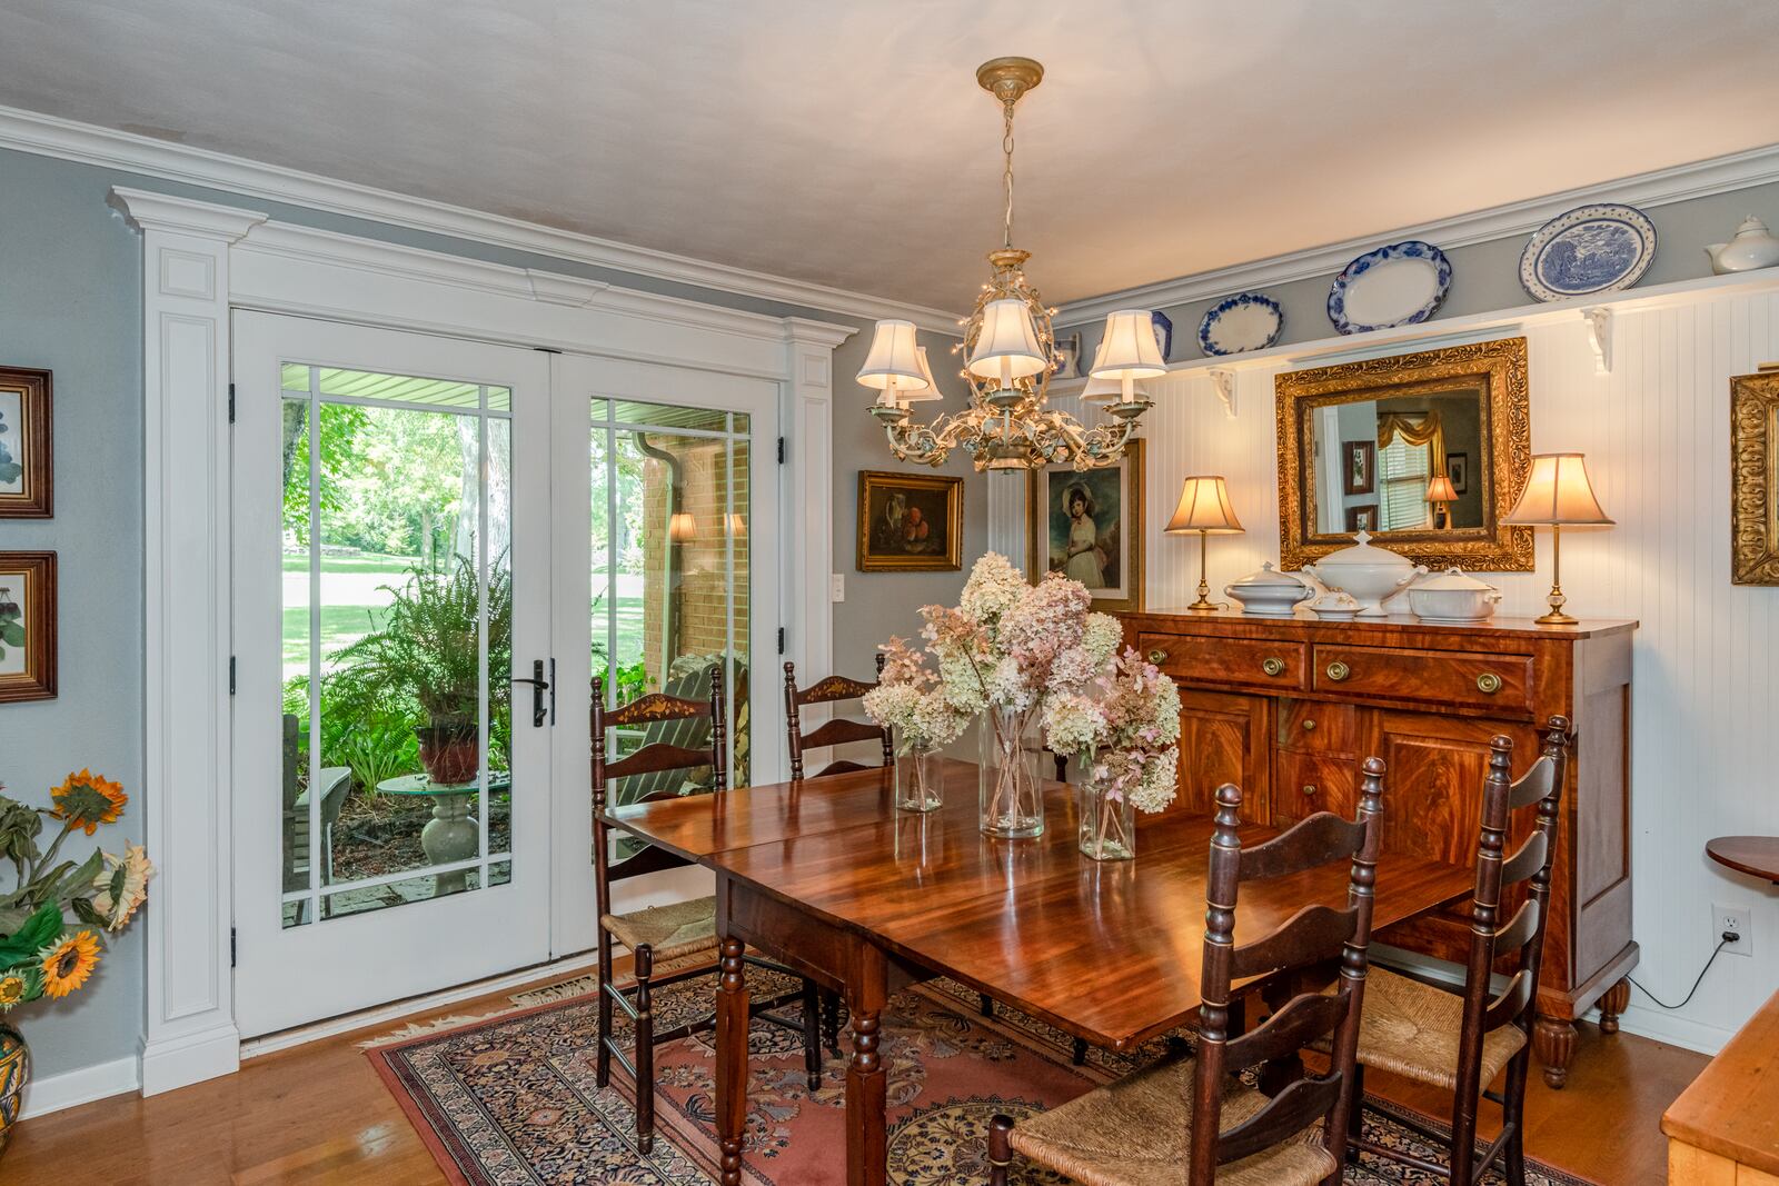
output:
M0 0L0 103L777 276L1075 301L1779 142L1770 0Z

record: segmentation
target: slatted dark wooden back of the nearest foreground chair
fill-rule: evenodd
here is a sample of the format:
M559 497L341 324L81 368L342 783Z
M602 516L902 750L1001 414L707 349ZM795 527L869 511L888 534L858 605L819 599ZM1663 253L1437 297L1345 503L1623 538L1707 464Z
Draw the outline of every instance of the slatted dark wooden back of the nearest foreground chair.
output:
M1359 1051L1359 1012L1364 1001L1366 948L1372 942L1372 885L1382 845L1384 763L1366 757L1359 784L1359 813L1352 825L1331 827L1311 816L1274 841L1252 850L1265 855L1247 861L1242 852L1242 791L1217 788L1211 829L1210 875L1204 903L1204 967L1199 976L1199 1042L1192 1079L1194 1120L1188 1175L1210 1182L1217 1166L1293 1138L1316 1120L1336 1163L1345 1159L1347 1120L1354 1106L1354 1065ZM1348 864L1345 909L1313 903L1293 914L1270 935L1235 944L1236 898L1244 880L1300 873L1316 864ZM1281 976L1308 973L1329 955L1340 957L1340 980L1318 1003L1293 998L1252 1031L1231 1042L1229 989L1242 974L1274 971ZM1315 994L1320 996L1320 994ZM1265 1108L1228 1133L1220 1131L1228 1078L1332 1033L1329 1070L1304 1078L1279 1092Z

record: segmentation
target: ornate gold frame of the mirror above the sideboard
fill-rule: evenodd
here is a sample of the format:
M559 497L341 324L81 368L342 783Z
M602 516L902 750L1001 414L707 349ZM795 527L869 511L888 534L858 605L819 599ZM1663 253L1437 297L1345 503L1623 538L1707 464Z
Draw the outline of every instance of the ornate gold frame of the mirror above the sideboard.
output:
M1485 393L1489 466L1471 482L1484 484L1484 526L1455 532L1391 532L1379 542L1432 569L1453 564L1491 573L1532 571L1532 528L1503 523L1532 469L1532 416L1526 381L1526 340L1500 338L1420 354L1340 363L1286 372L1274 379L1279 437L1279 564L1300 569L1352 544L1352 535L1315 533L1315 484L1302 482L1308 455L1304 407L1352 404L1446 389L1473 379ZM1309 491L1308 498L1304 491Z

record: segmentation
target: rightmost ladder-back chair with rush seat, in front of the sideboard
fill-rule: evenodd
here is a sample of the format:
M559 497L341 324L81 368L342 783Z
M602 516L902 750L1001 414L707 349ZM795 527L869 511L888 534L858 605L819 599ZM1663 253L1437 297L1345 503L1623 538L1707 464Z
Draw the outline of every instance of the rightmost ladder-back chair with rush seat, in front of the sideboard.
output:
M1569 775L1569 720L1551 717L1544 749L1517 782L1509 781L1514 741L1496 736L1489 743L1489 775L1482 788L1482 827L1477 841L1477 891L1469 907L1469 960L1462 996L1457 992L1377 969L1366 996L1359 1030L1359 1090L1364 1069L1379 1067L1418 1083L1452 1092L1450 1136L1407 1120L1434 1147L1450 1150L1450 1166L1363 1140L1354 1115L1348 1156L1364 1152L1389 1158L1452 1182L1482 1181L1496 1161L1509 1182L1526 1181L1525 1106L1532 1058L1532 1014L1537 1003L1539 967L1544 957L1544 923L1551 893L1551 862L1557 859L1558 809ZM1537 805L1537 823L1510 857L1507 832L1514 811ZM1526 896L1505 926L1500 925L1501 891L1526 882ZM1512 967L1507 987L1496 994L1491 973L1501 962ZM1500 1094L1487 1090L1507 1070ZM1477 1113L1487 1097L1501 1106L1501 1133L1477 1154Z

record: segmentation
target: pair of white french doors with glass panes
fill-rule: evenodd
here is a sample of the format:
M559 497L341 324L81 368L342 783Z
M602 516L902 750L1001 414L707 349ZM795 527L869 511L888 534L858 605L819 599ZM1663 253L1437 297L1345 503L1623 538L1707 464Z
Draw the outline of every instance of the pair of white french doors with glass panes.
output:
M594 677L715 670L731 786L783 777L777 384L246 311L233 341L242 1035L589 950Z

